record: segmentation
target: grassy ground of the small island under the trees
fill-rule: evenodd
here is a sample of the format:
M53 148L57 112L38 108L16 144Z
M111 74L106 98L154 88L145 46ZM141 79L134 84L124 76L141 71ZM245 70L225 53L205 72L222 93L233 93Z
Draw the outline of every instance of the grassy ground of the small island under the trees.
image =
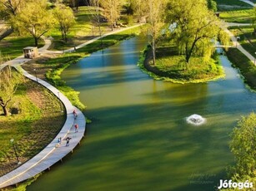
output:
M192 57L188 69L185 69L184 57L178 55L177 47L158 47L156 51L156 65L153 66L150 47L146 48L138 66L155 80L172 81L174 83L198 83L213 81L224 76L222 66L218 64L215 54L209 61L201 57Z

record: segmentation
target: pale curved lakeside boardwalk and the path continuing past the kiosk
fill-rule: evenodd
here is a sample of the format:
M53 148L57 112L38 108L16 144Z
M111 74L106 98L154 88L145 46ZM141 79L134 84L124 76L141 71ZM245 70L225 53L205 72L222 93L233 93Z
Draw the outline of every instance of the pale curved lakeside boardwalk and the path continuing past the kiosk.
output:
M114 32L109 32L108 34L105 34L102 37L107 37L108 35L112 35L117 32L123 32L125 30L132 29L140 25L142 24L139 24L133 27L126 27ZM100 37L93 38L92 40L85 42L76 48L78 49L81 47L85 47L89 43L95 42L98 39L100 39ZM45 45L38 49L39 54L64 53L64 52L73 51L73 49L69 49L66 51L48 51L48 47L51 46L51 40L45 37L43 37L43 40L45 42ZM7 65L11 65L11 66L14 66L15 68L18 68L24 62L27 62L27 61L30 61L30 59L23 58L23 56L18 56L12 61L8 61L3 65L1 65L0 71L3 69L3 67ZM76 108L76 110L78 111L78 117L76 120L74 120L73 110L75 108L66 96L64 96L54 86L48 84L48 82L43 81L35 76L32 76L31 74L28 74L28 72L24 71L23 69L22 71L24 76L28 77L33 81L38 81L39 84L48 88L48 90L52 91L55 96L58 96L58 98L63 102L63 105L65 106L65 109L67 111L67 120L63 125L63 129L58 133L58 135L54 138L54 140L50 144L48 144L48 146L45 149L43 149L39 154L34 156L33 159L30 159L25 164L22 164L21 166L19 166L17 169L14 169L12 172L0 177L0 189L3 189L4 187L8 187L13 184L18 184L19 182L22 182L26 179L33 178L36 174L43 172L45 169L49 169L53 164L57 163L59 160L62 160L65 155L73 151L73 149L79 144L80 140L82 140L84 132L86 130L86 120L83 113ZM74 132L73 125L75 123L78 124L79 126L79 131L77 133ZM56 144L58 143L59 137L62 137L63 140L66 137L71 137L72 140L70 140L70 145L68 147L65 146L65 141L63 141L63 143L60 144L60 146L57 148Z

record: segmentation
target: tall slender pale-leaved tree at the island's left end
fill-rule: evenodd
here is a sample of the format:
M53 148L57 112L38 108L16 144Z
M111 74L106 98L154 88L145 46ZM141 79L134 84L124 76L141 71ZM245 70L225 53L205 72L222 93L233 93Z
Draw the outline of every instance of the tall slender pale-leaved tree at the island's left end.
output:
M158 37L161 35L161 29L163 27L163 16L164 10L166 8L165 0L147 0L147 28L148 28L148 36L150 37L149 45L152 47L153 53L153 65L156 62L156 44L158 41Z

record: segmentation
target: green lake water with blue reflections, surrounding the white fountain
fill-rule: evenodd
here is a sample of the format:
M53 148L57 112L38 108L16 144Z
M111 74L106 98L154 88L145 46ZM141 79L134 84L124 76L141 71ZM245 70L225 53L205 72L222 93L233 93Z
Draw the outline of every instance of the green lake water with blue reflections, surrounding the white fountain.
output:
M97 51L63 72L93 120L82 144L28 190L213 191L233 164L229 134L256 109L226 56L224 80L179 85L154 81L136 63L145 40ZM198 114L207 122L188 125Z

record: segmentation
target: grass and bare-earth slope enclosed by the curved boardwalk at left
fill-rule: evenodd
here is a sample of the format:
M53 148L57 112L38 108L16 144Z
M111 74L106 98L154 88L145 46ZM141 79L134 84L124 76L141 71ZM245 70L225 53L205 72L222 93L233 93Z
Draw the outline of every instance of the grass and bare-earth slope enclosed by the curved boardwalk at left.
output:
M10 103L12 107L18 108L20 113L8 117L0 115L0 176L17 167L11 139L14 139L19 160L25 162L53 140L65 121L65 112L61 112L64 108L58 98L28 79L18 87Z

